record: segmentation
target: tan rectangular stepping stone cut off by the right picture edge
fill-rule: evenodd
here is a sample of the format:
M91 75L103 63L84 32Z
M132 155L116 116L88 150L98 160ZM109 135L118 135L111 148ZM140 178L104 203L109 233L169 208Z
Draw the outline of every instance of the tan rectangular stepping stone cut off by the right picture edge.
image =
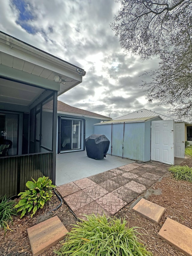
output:
M167 218L158 237L187 256L192 256L192 229Z

